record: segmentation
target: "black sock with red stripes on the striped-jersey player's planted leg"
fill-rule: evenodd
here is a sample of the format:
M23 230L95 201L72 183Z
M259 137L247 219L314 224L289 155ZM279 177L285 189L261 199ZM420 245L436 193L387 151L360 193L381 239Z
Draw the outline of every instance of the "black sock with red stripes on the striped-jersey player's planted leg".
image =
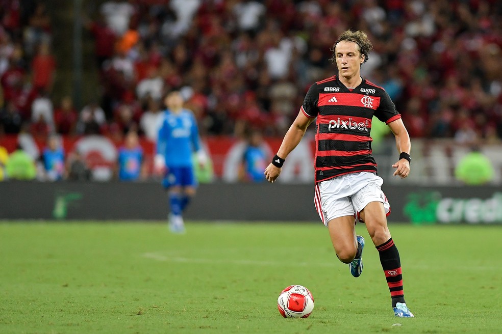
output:
M384 269L387 285L389 286L390 296L392 298L392 307L396 303L405 302L405 294L403 292L403 274L401 273L401 261L399 259L399 252L394 244L392 238L376 246L380 254L380 263Z

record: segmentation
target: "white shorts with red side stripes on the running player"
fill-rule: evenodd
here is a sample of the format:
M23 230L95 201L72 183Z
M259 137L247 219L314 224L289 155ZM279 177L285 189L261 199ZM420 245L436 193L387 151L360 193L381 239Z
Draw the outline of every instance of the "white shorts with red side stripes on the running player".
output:
M382 202L385 214L390 214L390 204L380 188L384 181L373 173L361 172L338 176L315 185L314 204L323 224L343 216L359 218L370 202ZM359 219L362 222L362 220Z

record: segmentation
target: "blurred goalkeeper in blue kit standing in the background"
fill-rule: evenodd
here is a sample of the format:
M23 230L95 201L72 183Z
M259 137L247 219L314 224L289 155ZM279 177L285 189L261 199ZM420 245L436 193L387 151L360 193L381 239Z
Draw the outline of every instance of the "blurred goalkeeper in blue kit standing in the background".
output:
M183 210L195 195L196 179L193 171L192 153L197 152L200 164L207 161L200 146L197 122L193 113L183 108L180 92L167 94L162 123L157 139L155 168L165 173L162 185L169 193L169 228L171 232L183 233Z

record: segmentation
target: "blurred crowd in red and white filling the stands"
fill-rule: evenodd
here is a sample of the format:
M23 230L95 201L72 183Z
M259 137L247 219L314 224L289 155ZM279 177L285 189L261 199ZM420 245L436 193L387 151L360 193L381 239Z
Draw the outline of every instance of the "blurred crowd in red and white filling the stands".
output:
M362 75L411 137L502 138L502 3L496 0L108 0L84 17L102 96L52 100L52 21L41 1L0 1L0 133L155 140L181 90L203 135L281 136L312 82L336 73L336 37L364 30ZM26 4L25 4L26 3ZM166 4L167 3L167 4Z

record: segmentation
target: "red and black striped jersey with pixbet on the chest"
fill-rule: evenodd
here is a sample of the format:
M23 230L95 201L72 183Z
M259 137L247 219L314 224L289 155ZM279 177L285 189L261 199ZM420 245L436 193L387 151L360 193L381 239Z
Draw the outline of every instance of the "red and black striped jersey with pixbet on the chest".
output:
M358 172L376 174L370 136L373 116L389 124L401 115L387 92L363 79L350 90L336 76L313 84L301 108L316 121L315 182Z

